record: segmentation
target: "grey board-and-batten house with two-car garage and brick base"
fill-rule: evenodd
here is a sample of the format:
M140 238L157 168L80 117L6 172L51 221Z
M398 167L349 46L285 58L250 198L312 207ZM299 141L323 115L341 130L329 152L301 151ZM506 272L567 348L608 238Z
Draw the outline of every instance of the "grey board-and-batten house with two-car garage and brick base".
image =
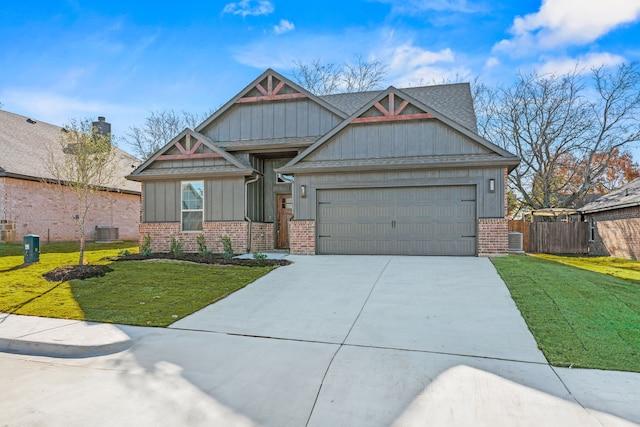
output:
M475 256L508 251L518 163L478 135L468 84L316 96L266 70L128 178L154 250Z

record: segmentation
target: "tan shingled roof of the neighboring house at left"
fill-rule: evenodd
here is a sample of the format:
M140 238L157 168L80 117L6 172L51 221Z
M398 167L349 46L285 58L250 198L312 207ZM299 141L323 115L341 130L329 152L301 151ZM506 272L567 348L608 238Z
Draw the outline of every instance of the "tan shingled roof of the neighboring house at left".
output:
M54 180L43 167L48 157L48 147L54 155L64 156L59 144L63 128L32 120L19 114L0 110L0 177L12 177L33 181ZM124 179L140 160L116 147L118 162L118 190L140 194L140 184Z

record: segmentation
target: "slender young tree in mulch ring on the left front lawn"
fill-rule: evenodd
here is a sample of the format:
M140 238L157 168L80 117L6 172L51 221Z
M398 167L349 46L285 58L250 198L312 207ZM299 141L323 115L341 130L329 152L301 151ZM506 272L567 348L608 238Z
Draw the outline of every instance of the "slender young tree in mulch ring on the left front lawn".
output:
M65 208L76 222L80 234L78 264L82 265L87 216L96 196L115 186L116 149L111 135L101 134L90 119L73 119L60 132L58 147L47 146L45 167L59 185Z

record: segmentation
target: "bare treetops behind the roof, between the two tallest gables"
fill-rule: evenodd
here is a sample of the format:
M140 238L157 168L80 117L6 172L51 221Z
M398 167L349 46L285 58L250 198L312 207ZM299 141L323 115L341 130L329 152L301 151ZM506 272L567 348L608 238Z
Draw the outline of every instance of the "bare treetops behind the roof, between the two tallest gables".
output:
M309 63L293 61L292 79L315 95L338 92L363 92L377 89L387 75L387 66L378 60L364 61L357 57L355 64L323 64L320 59Z

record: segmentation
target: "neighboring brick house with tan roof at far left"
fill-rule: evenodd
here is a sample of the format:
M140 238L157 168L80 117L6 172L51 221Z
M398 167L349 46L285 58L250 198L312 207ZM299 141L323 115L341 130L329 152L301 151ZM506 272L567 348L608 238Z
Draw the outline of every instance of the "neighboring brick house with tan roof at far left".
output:
M95 123L110 132L103 117ZM63 197L45 167L47 146L64 155L58 142L62 131L0 110L0 241L22 241L25 234L39 235L42 243L79 238L73 198ZM96 227L118 228L120 239L138 238L140 184L124 177L140 161L119 149L116 159L117 184L96 198L86 221L88 240L95 239Z

